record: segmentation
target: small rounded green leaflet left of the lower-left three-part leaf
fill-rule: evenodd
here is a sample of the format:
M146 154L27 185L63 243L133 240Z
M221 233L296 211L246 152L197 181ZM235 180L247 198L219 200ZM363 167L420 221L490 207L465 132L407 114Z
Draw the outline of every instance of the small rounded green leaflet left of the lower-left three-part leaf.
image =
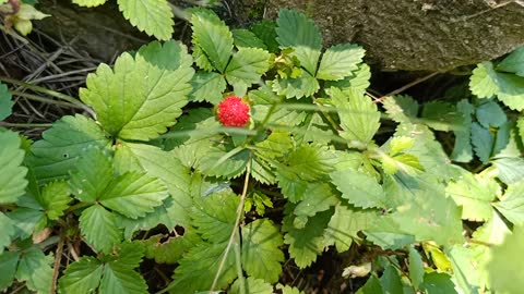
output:
M43 188L38 203L50 220L58 220L71 200L68 182L59 181L51 182Z

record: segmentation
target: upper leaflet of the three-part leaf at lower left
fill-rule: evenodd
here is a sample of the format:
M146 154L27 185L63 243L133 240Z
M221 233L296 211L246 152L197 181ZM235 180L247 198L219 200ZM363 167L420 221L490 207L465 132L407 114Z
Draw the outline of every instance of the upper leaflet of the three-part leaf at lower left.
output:
M111 160L98 148L87 148L76 162L71 174L72 194L83 203L95 203L112 181L115 172Z

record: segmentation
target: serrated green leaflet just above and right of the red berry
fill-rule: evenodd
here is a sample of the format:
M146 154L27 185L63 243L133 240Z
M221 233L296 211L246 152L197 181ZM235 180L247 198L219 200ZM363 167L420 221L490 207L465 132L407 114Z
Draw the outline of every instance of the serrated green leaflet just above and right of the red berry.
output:
M260 77L270 69L270 53L258 48L239 48L229 64L225 75L235 88L239 85L249 87L261 83Z

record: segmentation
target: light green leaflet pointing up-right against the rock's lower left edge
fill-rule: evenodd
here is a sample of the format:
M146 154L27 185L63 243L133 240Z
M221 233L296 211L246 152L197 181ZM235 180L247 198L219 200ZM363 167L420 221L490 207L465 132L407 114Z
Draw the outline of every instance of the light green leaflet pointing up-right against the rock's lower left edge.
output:
M358 70L366 50L354 44L336 45L325 50L320 61L317 78L338 81Z

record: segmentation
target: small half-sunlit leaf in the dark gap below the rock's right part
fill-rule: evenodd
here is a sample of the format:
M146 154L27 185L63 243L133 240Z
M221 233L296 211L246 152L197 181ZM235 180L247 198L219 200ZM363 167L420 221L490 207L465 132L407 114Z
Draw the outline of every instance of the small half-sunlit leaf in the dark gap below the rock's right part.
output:
M416 123L418 102L407 95L388 97L383 101L385 112L397 123Z

